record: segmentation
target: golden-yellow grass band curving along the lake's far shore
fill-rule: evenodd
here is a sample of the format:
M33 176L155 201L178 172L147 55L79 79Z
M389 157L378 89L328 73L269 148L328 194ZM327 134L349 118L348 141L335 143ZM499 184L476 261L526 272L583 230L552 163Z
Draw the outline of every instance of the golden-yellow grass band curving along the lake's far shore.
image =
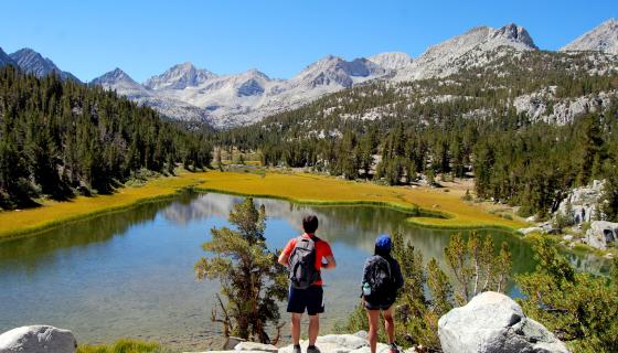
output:
M264 174L207 171L164 176L140 186L125 186L111 195L78 196L67 202L47 202L41 207L0 212L0 242L32 236L66 223L120 212L136 205L175 197L184 190L278 199L318 206L366 205L411 214L415 226L429 228L483 228L510 231L524 223L489 214L454 193L425 189L383 186L372 183L305 174Z

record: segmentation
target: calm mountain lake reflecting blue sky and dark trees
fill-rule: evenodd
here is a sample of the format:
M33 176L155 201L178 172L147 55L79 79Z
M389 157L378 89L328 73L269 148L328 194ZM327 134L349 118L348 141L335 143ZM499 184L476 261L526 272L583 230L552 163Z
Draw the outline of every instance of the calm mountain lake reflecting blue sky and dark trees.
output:
M219 285L195 281L193 265L210 229L227 225L239 201L216 193L184 195L0 243L0 332L43 323L72 330L81 343L129 336L185 349L216 346L221 330L210 319ZM318 235L330 242L338 260L335 270L323 272L324 331L358 303L362 266L377 234L402 229L425 259L441 261L455 233L413 227L404 213L383 207L256 203L266 206L270 248L283 248L300 234L303 215L318 215ZM534 268L529 244L491 234L497 244L510 244L513 272ZM593 256L571 259L592 271L603 265ZM518 295L513 288L510 293Z

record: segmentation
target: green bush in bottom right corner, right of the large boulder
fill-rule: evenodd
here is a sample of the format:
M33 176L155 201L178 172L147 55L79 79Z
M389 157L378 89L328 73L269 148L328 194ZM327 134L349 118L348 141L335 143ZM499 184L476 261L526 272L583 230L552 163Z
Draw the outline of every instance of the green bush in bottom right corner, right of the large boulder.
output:
M539 265L520 275L524 312L554 332L575 353L617 352L618 272L611 278L577 272L555 247L542 239L535 246Z

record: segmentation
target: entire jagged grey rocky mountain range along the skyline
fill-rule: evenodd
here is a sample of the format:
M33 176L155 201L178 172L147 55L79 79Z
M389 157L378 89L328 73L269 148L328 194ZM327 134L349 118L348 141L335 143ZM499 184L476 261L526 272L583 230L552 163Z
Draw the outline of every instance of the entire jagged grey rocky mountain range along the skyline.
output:
M508 51L500 50L508 49ZM373 79L405 82L446 77L462 68L479 67L494 57L514 52L537 51L528 31L514 23L500 29L478 26L427 49L413 58L406 53L381 53L347 61L326 56L289 79L276 79L249 69L217 75L187 62L138 83L120 68L89 84L153 107L180 120L207 121L215 127L245 125L265 116L305 105L344 88ZM561 52L595 51L618 55L618 22L610 19L561 49ZM17 64L38 76L56 72L62 78L78 81L60 69L50 58L30 49L7 55L0 49L0 65Z

